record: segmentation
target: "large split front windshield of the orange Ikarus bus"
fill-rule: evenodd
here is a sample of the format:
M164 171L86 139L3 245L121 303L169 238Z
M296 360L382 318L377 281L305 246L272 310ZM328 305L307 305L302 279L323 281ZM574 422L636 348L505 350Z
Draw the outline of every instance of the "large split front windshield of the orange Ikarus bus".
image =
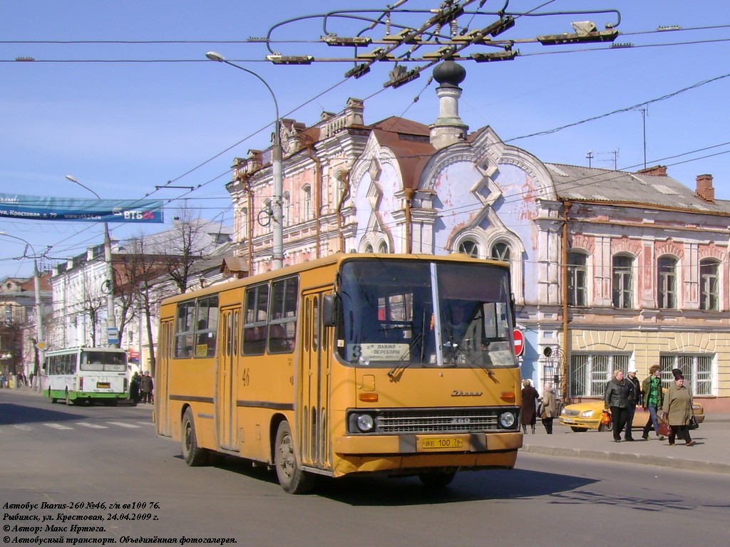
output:
M350 365L518 365L507 268L352 260L339 281L336 346Z

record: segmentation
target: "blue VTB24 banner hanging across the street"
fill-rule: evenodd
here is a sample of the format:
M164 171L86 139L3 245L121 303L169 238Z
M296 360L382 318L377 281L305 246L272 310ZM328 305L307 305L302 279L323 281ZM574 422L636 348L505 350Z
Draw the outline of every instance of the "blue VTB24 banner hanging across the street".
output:
M42 198L0 193L0 217L72 222L161 223L162 200Z

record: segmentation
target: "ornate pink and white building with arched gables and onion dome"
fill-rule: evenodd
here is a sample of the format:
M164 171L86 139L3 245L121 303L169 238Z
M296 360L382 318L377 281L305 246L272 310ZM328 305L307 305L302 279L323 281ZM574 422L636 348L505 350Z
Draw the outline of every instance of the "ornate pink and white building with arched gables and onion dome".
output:
M565 166L469 133L465 71L434 70L426 126L365 125L362 101L312 127L283 120L285 265L334 252L507 260L522 373L568 399L600 397L615 368L680 368L707 411L730 411L730 202L712 176L691 189L658 166L636 173ZM234 163L234 254L272 268L271 149Z

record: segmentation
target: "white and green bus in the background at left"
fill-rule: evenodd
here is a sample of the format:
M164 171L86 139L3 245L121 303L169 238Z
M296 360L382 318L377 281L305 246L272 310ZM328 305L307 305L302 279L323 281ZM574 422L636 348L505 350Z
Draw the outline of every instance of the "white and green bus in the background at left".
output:
M115 405L127 398L127 354L116 348L69 348L45 355L45 395L55 403L101 400Z

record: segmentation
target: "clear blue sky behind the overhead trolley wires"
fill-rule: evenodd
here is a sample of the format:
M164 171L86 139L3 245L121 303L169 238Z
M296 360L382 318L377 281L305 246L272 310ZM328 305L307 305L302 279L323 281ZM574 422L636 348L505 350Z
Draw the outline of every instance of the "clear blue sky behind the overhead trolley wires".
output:
M504 3L487 0L482 9L496 12ZM316 123L323 111L341 111L348 97L366 99L366 123L391 115L433 123L437 100L436 85L427 85L431 69L393 90L383 88L393 63L378 63L366 76L343 82L352 63L274 66L264 60L266 44L248 41L284 20L385 5L377 0L4 0L0 193L93 197L68 182L65 176L70 174L102 198L169 201L168 224L185 205L231 225L224 187L231 179L229 168L234 157L268 145L274 106L255 77L207 61L205 53L217 51L255 71L274 90L280 115L306 125ZM409 0L401 8L438 5L439 0ZM491 125L504 141L554 163L588 165L590 150L593 166L636 170L644 165L646 150L648 166L668 166L671 176L691 188L697 175L712 174L716 197L730 199L730 144L723 144L730 141L730 67L723 63L730 57L730 12L725 2L511 0L507 11L535 8L535 13L556 15L520 17L499 36L518 41L515 61L464 61L460 114L471 131ZM616 42L634 47L519 42L572 33L572 21L591 20L599 30L616 21L611 12L565 14L585 9L618 9L621 35ZM393 14L393 23L415 26L428 17ZM483 28L494 19L464 15L459 23ZM339 18L328 31L348 36L366 26L364 20ZM657 32L670 26L683 30ZM322 34L322 21L307 18L277 27L271 36L277 42L271 47L284 55L351 55L346 48L317 43ZM366 34L379 38L385 29ZM153 43L165 41L169 43ZM434 48L419 52L428 50ZM493 51L473 46L465 53ZM36 61L15 61L21 57ZM645 114L639 109L610 114L646 101L652 102ZM591 121L579 123L583 120ZM155 190L168 182L195 190ZM115 238L141 230L139 225L111 226ZM147 225L144 230L164 228ZM25 239L38 254L47 251L48 257L64 260L99 244L103 228L0 218L0 231ZM0 236L0 278L31 275L32 260L18 260L24 247Z

